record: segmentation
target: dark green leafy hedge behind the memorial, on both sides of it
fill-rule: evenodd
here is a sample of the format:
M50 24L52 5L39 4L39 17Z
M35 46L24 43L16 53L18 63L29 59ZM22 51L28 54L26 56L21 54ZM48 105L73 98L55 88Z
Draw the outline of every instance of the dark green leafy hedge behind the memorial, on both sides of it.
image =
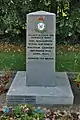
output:
M25 43L26 14L37 10L56 13L57 43L80 43L80 0L0 0L1 41Z

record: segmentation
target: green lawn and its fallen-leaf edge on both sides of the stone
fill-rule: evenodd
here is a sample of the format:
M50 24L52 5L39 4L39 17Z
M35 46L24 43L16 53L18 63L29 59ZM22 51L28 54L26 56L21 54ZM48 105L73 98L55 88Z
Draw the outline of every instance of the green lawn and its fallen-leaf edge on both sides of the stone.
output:
M80 71L80 45L57 45L56 71ZM0 70L25 71L26 53L23 45L0 43Z

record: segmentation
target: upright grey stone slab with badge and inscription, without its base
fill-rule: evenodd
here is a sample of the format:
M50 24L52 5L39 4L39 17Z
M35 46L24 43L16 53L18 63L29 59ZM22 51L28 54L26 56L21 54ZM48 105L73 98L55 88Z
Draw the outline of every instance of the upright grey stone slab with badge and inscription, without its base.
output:
M55 14L27 15L27 81L29 86L54 86Z

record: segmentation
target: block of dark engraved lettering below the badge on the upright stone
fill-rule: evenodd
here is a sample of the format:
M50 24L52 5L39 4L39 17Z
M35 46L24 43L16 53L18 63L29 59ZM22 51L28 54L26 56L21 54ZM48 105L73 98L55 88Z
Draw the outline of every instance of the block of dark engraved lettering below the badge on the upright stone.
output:
M53 60L54 35L53 34L29 34L28 35L28 59Z

